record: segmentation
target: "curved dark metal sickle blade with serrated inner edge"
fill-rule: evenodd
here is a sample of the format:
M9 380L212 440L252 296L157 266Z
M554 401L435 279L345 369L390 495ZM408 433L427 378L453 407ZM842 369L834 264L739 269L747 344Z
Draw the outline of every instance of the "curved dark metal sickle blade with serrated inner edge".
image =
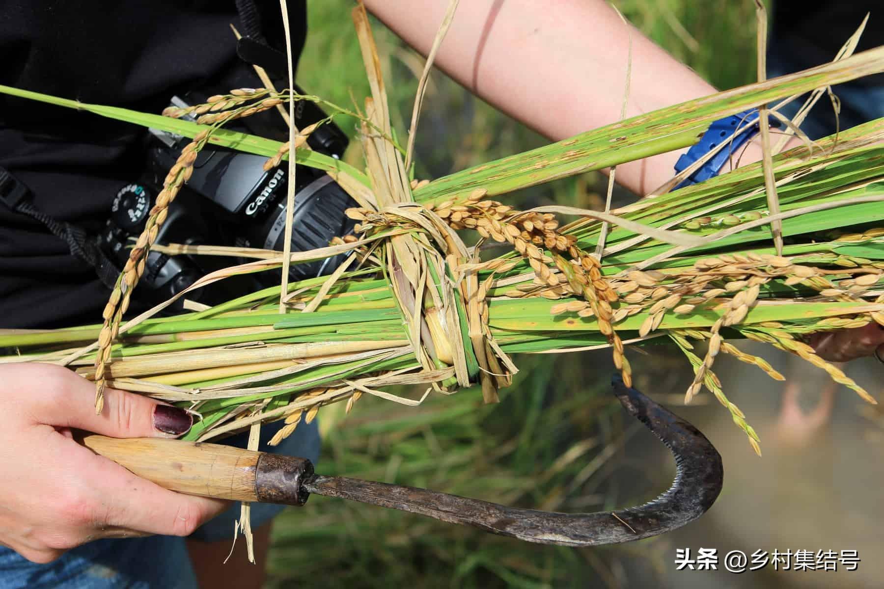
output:
M639 507L594 513L524 510L429 489L321 475L306 480L302 488L317 495L410 511L528 542L561 546L640 540L697 519L712 507L721 491L724 470L718 450L696 427L624 385L619 375L614 376L612 384L626 411L656 434L675 457L672 487Z

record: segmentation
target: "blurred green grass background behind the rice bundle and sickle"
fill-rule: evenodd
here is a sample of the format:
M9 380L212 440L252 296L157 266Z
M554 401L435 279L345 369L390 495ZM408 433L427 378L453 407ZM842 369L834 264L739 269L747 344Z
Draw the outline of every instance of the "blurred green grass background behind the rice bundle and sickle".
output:
M309 36L299 83L332 102L361 103L369 89L349 16L352 2L308 4ZM755 79L753 3L613 4L716 87ZM375 34L392 121L404 137L423 59L377 21ZM354 134L353 120L338 123ZM544 142L434 72L416 141L416 176L439 177ZM362 165L357 147L351 147L347 159ZM533 188L512 201L517 206L557 202L598 207L600 192L604 184L590 174ZM685 374L677 357L655 352L657 356L652 366L642 365L639 386L669 378L664 374ZM416 409L369 396L347 417L342 407L323 409L319 472L565 511L641 502L667 485L668 464L646 464L627 450L639 426L625 421L608 395L612 370L606 353L522 355L515 361L522 372L511 388L501 391L500 404L483 405L481 393L469 389L431 396ZM655 443L650 435L639 437L643 434L636 435L641 443ZM666 539L596 549L541 547L397 511L313 497L304 508L278 518L269 586L616 587L625 586L625 579L629 586L660 586L669 552Z

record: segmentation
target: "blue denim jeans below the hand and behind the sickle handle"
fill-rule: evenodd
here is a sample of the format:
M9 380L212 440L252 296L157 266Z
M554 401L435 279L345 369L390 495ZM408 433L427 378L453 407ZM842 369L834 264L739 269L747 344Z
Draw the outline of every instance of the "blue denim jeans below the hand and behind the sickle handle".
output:
M262 427L261 449L290 456L319 457L317 423L301 423L293 434L276 448L266 445L281 424ZM248 435L240 434L225 443L244 448ZM252 527L257 528L275 517L278 505L252 504ZM194 532L192 538L214 541L232 539L233 522L240 517L240 504L232 505L221 515ZM221 563L218 563L219 565ZM0 547L0 589L197 589L194 568L187 556L184 538L149 536L147 538L95 540L74 548L48 564L27 561L6 547Z

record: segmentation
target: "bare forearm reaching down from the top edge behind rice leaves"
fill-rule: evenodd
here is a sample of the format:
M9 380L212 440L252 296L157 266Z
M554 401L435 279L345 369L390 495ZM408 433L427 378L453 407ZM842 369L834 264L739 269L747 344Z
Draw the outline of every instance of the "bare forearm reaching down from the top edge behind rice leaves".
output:
M367 0L406 42L429 51L448 0ZM453 79L552 140L617 121L629 39L627 117L715 90L626 25L602 0L465 0L436 63ZM673 175L677 154L618 168L621 184L646 193Z

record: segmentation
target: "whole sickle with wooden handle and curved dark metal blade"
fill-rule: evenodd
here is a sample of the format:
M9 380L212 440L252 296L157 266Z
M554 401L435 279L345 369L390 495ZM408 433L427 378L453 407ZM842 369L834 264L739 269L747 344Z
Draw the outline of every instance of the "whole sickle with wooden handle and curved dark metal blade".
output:
M313 472L305 458L198 442L119 440L87 435L81 442L130 471L174 491L247 502L303 505L311 493L371 503L472 525L486 532L560 546L598 546L669 532L697 519L718 497L721 457L696 427L613 378L614 394L675 457L672 487L652 502L623 510L559 513Z

